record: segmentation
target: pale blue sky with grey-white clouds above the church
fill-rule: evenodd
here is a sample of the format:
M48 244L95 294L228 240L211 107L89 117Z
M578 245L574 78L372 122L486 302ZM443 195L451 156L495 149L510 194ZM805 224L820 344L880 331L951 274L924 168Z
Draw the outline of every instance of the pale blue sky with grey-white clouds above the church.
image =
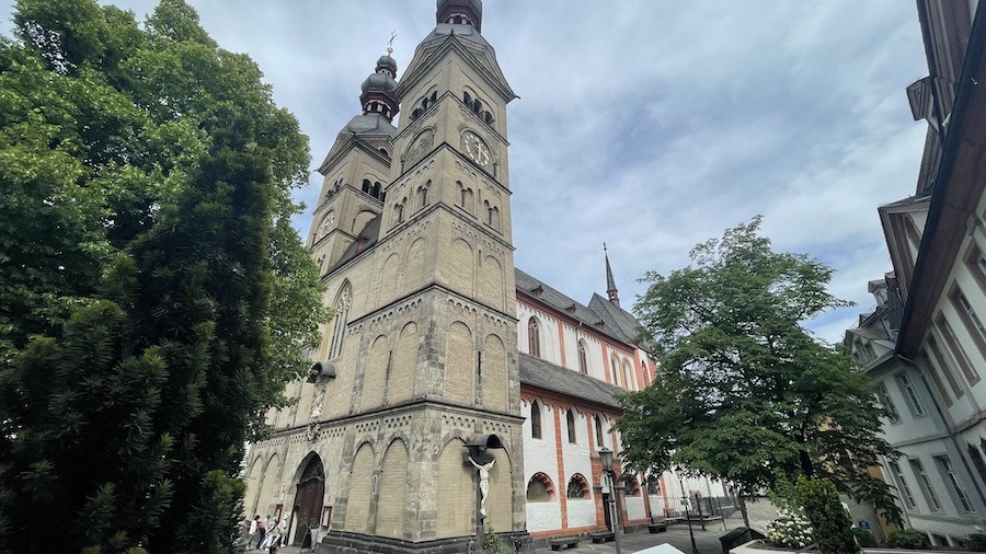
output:
M103 0L103 3L110 3ZM139 16L152 0L118 0ZM308 134L312 169L359 111L391 31L400 71L434 0L191 0L249 54ZM0 0L9 28L12 0ZM857 301L812 328L838 341L890 269L876 206L913 194L925 126L904 89L927 67L913 1L486 0L509 105L516 264L582 302L623 307L647 270L764 215L777 249L837 269ZM298 191L312 205L320 180ZM296 222L302 236L310 217Z

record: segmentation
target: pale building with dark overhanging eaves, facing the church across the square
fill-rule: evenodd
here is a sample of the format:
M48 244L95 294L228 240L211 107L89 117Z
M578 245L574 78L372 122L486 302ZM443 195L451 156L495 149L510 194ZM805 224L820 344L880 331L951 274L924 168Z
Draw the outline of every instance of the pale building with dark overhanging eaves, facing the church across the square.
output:
M918 0L930 74L907 88L928 134L915 195L879 209L893 272L846 334L891 416L882 468L932 545L986 528L986 14Z

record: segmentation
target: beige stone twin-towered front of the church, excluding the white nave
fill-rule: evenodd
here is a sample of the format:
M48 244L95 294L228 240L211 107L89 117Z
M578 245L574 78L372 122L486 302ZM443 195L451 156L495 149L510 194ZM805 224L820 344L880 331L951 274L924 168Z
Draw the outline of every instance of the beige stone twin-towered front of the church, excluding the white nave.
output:
M263 474L279 468L291 485L261 486L246 511L279 499L293 542L329 521L320 552L466 552L478 509L466 445L478 437L503 447L486 450L485 524L527 536L506 140L515 94L480 34L482 2L437 4L399 80L389 55L378 60L363 114L319 168L309 243L335 319L311 378L289 388L297 405L273 415L274 438L257 445L283 452Z

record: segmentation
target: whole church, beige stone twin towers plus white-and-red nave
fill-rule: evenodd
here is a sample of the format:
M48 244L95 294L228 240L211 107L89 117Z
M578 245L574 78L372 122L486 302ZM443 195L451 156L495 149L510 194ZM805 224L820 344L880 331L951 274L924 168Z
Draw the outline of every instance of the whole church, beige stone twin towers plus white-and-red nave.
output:
M295 544L314 528L322 552L465 552L482 505L523 549L612 526L598 450L619 453L616 395L656 365L608 257L607 297L587 305L515 268L516 95L481 26L480 0L438 0L408 68L378 60L319 168L308 243L335 315L246 462L246 515L287 519ZM466 459L480 451L484 495ZM621 481L620 521L677 510L660 478Z

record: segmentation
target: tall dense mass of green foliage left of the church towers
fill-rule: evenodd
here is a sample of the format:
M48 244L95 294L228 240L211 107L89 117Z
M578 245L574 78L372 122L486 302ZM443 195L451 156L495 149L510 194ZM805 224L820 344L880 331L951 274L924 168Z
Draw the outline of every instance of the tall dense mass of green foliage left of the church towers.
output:
M0 38L0 546L229 552L321 307L307 138L183 0ZM0 549L2 550L2 549Z

